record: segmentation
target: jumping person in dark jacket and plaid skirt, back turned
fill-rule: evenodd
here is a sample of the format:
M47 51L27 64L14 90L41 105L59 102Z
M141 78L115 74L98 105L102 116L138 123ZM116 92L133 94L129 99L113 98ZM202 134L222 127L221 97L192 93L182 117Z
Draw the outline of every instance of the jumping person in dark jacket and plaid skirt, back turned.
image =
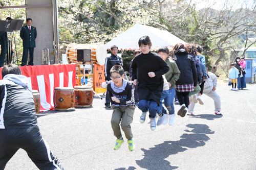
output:
M181 105L178 115L184 117L189 105L189 92L197 86L197 69L192 56L188 55L182 43L174 46L174 60L180 70L180 78L176 82L175 89L178 101ZM192 72L191 72L192 70Z

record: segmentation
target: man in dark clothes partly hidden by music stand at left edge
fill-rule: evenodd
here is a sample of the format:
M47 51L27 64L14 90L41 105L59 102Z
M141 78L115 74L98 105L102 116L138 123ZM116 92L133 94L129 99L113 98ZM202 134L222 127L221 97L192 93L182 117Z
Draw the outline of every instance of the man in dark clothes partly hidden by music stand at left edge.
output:
M11 17L6 18L7 22L11 22L11 20L12 20ZM0 45L1 45L0 67L3 67L5 63L5 56L6 56L6 53L8 52L7 32L0 31Z

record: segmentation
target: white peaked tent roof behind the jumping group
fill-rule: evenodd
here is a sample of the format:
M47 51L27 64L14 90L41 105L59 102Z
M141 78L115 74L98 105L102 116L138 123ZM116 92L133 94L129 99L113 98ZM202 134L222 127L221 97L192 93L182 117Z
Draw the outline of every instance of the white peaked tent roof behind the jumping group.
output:
M186 43L168 31L162 31L136 23L131 29L106 43L105 46L107 49L110 49L112 45L117 45L119 50L137 50L139 48L138 41L144 35L149 36L151 39L151 50L157 50L161 46L170 47L177 43Z

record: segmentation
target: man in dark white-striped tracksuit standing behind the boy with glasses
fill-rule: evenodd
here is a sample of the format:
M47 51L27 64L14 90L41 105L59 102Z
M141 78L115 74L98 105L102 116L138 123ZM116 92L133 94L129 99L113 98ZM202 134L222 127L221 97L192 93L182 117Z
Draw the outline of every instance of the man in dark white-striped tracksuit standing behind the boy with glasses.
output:
M123 65L121 57L117 56L118 47L116 45L112 45L110 49L111 49L111 56L106 57L105 69L104 69L106 82L111 80L110 69L114 65L121 65L121 66ZM110 108L110 98L109 98L108 90L106 91L106 96L105 96L105 107Z

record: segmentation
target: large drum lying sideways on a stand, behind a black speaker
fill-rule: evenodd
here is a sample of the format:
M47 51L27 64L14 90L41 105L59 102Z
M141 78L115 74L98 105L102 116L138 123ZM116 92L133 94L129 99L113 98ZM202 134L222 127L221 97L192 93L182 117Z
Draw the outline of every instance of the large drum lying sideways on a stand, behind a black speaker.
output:
M106 47L103 43L92 44L75 44L71 43L67 46L66 57L69 64L82 64L77 61L77 49L91 49L91 62L104 65L106 59Z

